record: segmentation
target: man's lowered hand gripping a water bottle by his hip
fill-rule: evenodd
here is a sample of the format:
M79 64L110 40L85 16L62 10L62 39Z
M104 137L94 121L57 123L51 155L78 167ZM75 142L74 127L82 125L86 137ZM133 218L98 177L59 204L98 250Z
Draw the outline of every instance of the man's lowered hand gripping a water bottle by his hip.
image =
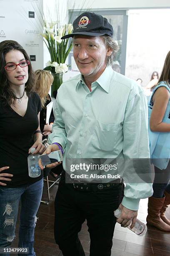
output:
M123 228L127 228L130 223L132 223L130 228L133 228L135 226L138 211L130 210L122 204L119 205L119 209L121 210L121 215L117 218L117 222L120 223Z

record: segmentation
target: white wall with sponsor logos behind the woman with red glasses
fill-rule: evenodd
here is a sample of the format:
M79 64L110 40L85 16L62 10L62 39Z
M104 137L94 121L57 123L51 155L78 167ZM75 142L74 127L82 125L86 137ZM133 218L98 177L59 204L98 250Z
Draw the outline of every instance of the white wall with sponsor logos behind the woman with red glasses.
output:
M32 18L29 12L32 12ZM18 41L28 55L35 58L35 61L31 61L34 70L43 68L39 12L42 12L42 0L0 0L0 41Z

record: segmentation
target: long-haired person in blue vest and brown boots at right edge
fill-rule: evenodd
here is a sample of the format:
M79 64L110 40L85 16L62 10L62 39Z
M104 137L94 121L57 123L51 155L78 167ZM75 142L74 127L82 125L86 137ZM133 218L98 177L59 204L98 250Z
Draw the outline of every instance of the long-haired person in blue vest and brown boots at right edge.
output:
M149 100L149 108L152 109L150 123L148 124L150 145L153 144L153 133L165 133L167 135L166 142L163 144L163 142L159 140L158 153L160 154L164 148L164 151L167 151L169 156L170 137L168 137L168 133L170 133L170 51L166 56L158 85L153 90L153 94ZM156 147L157 145L155 148ZM154 154L156 154L156 151L154 152ZM150 157L153 158L152 155ZM159 158L160 155L158 156L158 159ZM157 166L155 166L153 196L149 197L148 200L147 223L159 228L160 230L170 232L170 220L165 216L165 210L168 205L170 205L170 183L168 182L170 182L170 162L168 163L166 169L159 169Z

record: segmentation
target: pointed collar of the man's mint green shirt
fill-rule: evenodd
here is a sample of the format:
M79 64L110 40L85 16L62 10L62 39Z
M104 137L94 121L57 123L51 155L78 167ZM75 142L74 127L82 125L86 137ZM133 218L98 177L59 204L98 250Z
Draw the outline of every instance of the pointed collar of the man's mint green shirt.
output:
M94 83L98 83L100 85L100 87L102 87L103 90L105 90L105 92L109 92L109 87L110 87L110 80L112 78L112 67L108 66L105 68L105 70L102 72L102 74L100 75L100 77L94 82ZM82 74L80 74L80 79L77 82L76 88L75 90L77 91L77 88L85 85L85 81L83 79Z

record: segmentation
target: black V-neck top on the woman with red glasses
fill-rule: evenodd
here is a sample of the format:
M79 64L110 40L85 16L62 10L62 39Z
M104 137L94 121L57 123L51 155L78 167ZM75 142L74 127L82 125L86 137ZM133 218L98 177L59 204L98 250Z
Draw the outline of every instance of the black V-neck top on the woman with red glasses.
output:
M0 102L0 167L10 166L2 173L13 174L5 187L19 187L42 179L28 176L28 149L33 145L33 133L38 128L37 114L41 110L40 97L33 92L28 97L28 107L22 117L10 106ZM3 182L3 181L2 181Z

